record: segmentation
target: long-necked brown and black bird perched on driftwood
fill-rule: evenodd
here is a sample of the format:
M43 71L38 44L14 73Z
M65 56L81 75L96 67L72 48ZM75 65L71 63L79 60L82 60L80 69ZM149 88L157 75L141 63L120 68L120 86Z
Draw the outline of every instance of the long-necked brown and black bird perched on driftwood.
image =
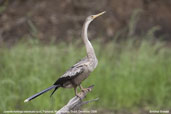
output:
M88 27L89 24L97 17L103 15L105 11L98 13L96 15L90 15L86 18L83 28L82 28L82 34L81 37L83 39L87 56L81 59L79 62L77 62L75 65L73 65L71 68L69 68L61 77L59 77L56 82L48 87L47 89L27 98L24 102L31 101L35 99L36 97L42 95L43 93L54 89L50 96L54 94L54 92L62 87L62 88L74 88L75 95L80 97L80 94L77 92L77 87L79 86L81 91L85 91L86 88L83 88L81 86L82 81L84 81L89 74L96 68L98 65L98 59L96 57L94 48L91 44L91 42L88 39ZM81 97L80 97L81 98Z

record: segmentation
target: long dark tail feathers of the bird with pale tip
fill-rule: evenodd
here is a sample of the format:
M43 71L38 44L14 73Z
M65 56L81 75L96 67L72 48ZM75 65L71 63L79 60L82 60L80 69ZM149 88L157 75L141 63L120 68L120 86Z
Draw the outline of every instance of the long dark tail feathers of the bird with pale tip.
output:
M47 89L45 89L45 90L43 90L43 91L41 91L41 92L39 92L39 93L37 93L37 94L35 94L35 95L29 97L29 98L27 98L24 102L31 101L32 99L35 99L36 97L40 96L41 94L43 94L43 93L45 93L45 92L47 92L47 91L49 91L49 90L51 90L51 89L53 89L53 88L56 89L56 88L58 88L58 87L59 87L59 85L52 85L52 86L50 86L49 88L47 88Z

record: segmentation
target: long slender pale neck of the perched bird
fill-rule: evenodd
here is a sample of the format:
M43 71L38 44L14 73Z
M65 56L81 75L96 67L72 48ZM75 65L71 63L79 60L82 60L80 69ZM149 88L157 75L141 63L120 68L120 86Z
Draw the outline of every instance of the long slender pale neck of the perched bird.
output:
M84 44L86 46L88 58L96 59L96 54L94 52L94 48L93 48L92 44L90 43L90 41L88 40L87 31L88 31L89 24L90 24L90 22L87 22L87 21L84 23L83 29L82 29L82 38L83 38Z

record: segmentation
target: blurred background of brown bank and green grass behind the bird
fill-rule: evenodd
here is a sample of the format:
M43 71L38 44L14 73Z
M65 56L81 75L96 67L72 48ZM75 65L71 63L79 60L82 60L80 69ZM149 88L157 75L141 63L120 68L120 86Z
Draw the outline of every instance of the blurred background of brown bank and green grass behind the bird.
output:
M86 55L87 16L107 13L89 27L98 67L83 110L146 114L171 108L170 0L0 0L0 111L58 110L74 96L59 89L29 103Z

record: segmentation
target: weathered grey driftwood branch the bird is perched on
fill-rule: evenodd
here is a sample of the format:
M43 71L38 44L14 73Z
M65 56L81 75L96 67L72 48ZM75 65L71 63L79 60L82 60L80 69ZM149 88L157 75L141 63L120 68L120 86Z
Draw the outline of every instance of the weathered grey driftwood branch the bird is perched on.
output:
M92 101L97 101L98 98L90 100L90 101L83 101L83 99L85 98L87 93L90 92L93 87L94 87L94 85L88 87L85 91L81 91L79 93L80 97L78 97L78 96L73 97L64 107L62 107L60 110L58 110L56 112L56 114L70 113L74 110L78 110L84 104L88 104L89 102L92 102Z

